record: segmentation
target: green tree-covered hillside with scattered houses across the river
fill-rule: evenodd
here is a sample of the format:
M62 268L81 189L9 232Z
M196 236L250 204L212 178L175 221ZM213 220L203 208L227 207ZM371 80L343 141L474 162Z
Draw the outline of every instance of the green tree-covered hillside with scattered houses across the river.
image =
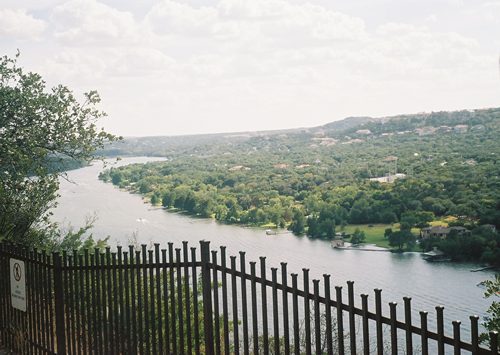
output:
M112 169L101 178L166 208L225 223L288 226L317 238L332 238L348 224L400 222L408 232L396 233L403 244L394 243L403 248L414 243L411 228L449 215L471 227L500 228L499 138L500 109L487 109L131 139L108 153L168 161ZM406 177L369 179L396 173Z

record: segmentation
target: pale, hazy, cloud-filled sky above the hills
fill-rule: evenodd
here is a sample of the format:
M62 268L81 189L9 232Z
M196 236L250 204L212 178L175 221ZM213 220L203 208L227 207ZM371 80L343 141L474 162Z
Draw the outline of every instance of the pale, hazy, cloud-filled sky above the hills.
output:
M123 136L500 106L500 0L2 0L0 48Z

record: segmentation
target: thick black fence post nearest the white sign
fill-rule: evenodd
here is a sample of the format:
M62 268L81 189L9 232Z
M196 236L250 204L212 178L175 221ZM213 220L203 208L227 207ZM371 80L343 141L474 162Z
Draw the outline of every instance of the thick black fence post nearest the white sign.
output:
M56 338L57 355L66 354L66 334L64 331L64 290L61 256L59 253L52 253L54 261L54 301L56 313Z

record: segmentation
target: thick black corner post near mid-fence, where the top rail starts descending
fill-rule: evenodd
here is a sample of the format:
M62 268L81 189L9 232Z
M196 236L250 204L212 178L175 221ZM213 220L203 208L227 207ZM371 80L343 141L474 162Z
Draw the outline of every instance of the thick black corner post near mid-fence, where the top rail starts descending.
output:
M205 333L205 354L214 354L214 332L212 314L212 293L210 280L210 242L200 241L201 277L203 285L203 325Z

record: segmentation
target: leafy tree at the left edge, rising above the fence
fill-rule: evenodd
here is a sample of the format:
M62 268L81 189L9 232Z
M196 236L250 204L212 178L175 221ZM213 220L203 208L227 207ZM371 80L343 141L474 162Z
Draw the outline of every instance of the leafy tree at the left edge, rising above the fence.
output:
M80 103L63 85L48 89L18 56L0 58L0 239L29 243L34 227L49 226L65 167L117 138L96 126L105 116L96 91Z

